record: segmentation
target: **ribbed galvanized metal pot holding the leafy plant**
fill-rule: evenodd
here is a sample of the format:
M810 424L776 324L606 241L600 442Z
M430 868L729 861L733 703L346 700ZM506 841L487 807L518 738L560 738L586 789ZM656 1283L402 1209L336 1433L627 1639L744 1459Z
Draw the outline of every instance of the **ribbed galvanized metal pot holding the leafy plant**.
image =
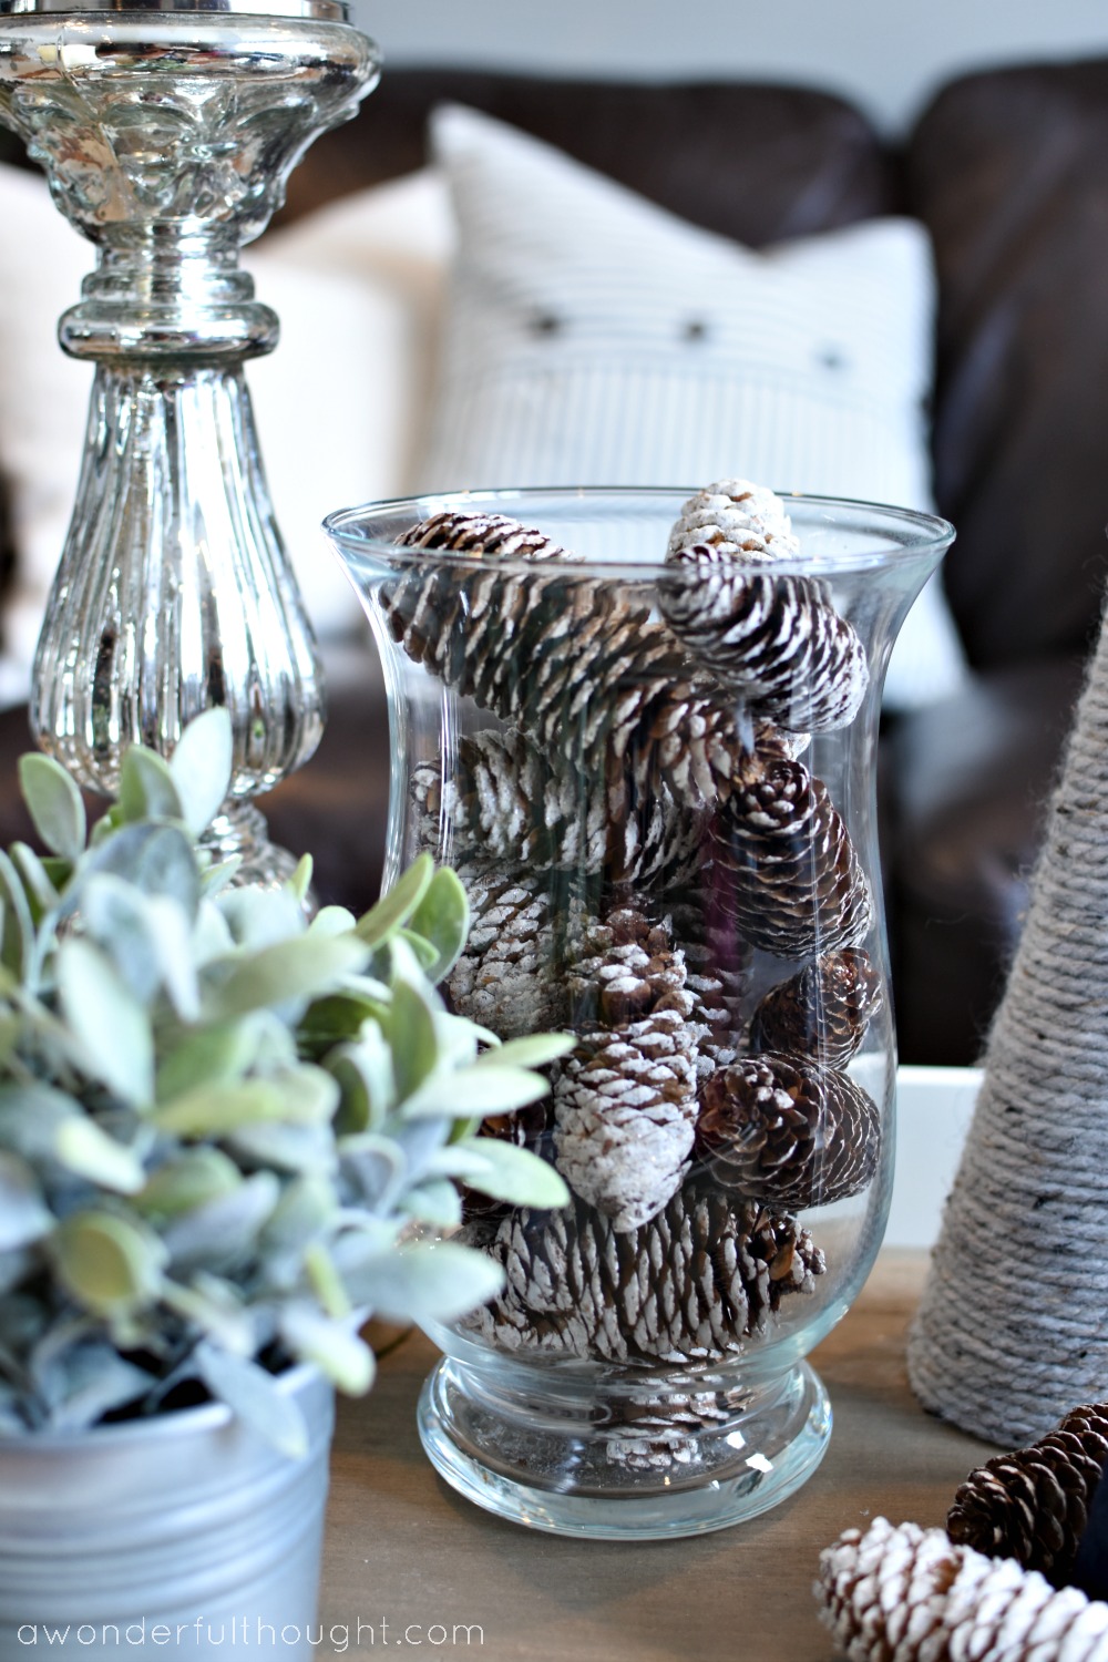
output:
M309 1659L334 1391L314 1368L281 1384L307 1421L302 1459L223 1403L0 1438L0 1662L238 1645Z

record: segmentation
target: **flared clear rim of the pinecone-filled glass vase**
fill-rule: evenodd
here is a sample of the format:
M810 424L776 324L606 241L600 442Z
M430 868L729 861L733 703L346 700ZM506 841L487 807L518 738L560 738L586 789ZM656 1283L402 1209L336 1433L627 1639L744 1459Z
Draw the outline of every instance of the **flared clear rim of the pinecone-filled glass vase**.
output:
M568 517L575 505L581 515L590 509L603 509L615 519L620 507L628 510L638 505L640 510L664 504L676 519L681 504L693 497L698 485L498 485L475 487L465 490L434 490L415 495L389 497L362 502L354 507L336 509L322 522L331 542L341 557L354 560L387 560L395 570L397 565L427 567L429 563L480 572L488 570L488 562L480 555L460 553L452 548L405 547L389 535L375 537L375 525L387 525L390 520L410 519L415 524L439 512L473 512L505 514L512 519L527 520L527 510L533 509ZM776 495L786 514L809 514L809 530L819 524L819 515L826 519L829 530L836 525L847 530L851 524L857 532L865 532L870 545L864 548L836 550L822 547L817 558L801 552L796 555L776 555L769 567L757 570L772 575L811 575L816 567L824 575L836 572L849 573L872 568L884 568L900 562L917 562L930 557L935 563L954 542L955 527L939 514L922 509L899 507L887 502L869 502L860 497L834 497L816 492L777 490ZM880 529L887 529L887 537L880 537ZM802 535L802 529L801 529ZM610 577L621 582L640 580L655 582L664 570L666 580L679 578L679 567L664 565L664 543L658 548L656 558L603 560L603 558L543 558L542 562L525 557L498 557L498 572L520 572L533 577L537 572L552 575L553 572L573 573L576 577ZM686 568L688 570L688 568Z

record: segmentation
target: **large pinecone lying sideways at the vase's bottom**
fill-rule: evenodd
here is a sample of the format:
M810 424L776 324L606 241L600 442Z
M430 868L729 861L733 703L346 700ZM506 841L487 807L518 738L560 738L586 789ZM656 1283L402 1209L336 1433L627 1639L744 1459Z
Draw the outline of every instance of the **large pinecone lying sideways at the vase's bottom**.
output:
M762 1333L787 1293L826 1270L807 1230L756 1202L686 1183L650 1223L620 1233L575 1200L467 1225L507 1288L463 1328L507 1350L596 1361L709 1361Z

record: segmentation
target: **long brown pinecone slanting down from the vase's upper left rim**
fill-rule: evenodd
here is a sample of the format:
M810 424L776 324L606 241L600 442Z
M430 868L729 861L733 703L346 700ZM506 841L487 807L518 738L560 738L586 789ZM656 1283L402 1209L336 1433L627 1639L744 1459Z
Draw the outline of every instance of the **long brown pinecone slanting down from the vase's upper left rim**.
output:
M648 620L626 583L545 570L548 548L533 573L500 570L498 548L512 534L500 525L488 537L480 530L488 517L475 519L473 547L458 514L409 532L412 545L477 552L488 565L472 573L449 562L442 572L417 567L379 585L394 640L543 753L603 779L610 819L628 818L659 783L688 808L726 798L749 746L736 731L734 701L688 673L669 628ZM515 535L520 545L547 545L525 527Z

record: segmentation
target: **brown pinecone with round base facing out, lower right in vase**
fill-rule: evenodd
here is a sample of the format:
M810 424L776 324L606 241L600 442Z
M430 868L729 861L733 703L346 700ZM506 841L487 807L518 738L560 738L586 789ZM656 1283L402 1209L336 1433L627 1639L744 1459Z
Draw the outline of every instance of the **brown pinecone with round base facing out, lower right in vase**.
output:
M877 1165L877 1105L849 1074L744 1057L701 1090L696 1150L724 1188L801 1212L865 1188Z

